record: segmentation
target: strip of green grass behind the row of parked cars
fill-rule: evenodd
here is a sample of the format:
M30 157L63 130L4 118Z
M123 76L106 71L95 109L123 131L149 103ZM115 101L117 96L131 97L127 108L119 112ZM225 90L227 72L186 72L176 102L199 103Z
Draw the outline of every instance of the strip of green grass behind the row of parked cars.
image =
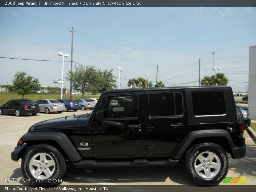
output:
M84 95L84 99L88 98L99 98L100 95ZM81 99L82 94L74 94L72 95L72 100ZM22 99L22 95L18 95L16 93L4 93L0 92L0 105L3 105L9 100L12 99ZM40 99L60 99L60 94L28 94L24 95L24 99L29 99L32 101L37 101ZM69 94L63 94L63 99L69 99Z

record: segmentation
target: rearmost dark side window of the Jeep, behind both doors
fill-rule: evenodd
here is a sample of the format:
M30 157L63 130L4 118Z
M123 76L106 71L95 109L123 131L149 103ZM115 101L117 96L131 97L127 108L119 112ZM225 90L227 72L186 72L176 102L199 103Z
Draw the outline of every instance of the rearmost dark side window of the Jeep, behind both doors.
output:
M193 92L192 104L195 116L226 114L223 92Z

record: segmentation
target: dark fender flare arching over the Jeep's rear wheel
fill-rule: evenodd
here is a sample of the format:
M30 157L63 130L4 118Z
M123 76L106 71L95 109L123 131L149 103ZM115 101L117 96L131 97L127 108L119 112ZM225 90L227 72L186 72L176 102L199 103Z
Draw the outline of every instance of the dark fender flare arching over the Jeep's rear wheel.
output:
M234 142L226 130L223 129L209 129L189 132L175 148L172 159L180 159L185 151L188 149L189 145L193 140L198 138L206 137L224 137L227 139L230 148L235 148Z

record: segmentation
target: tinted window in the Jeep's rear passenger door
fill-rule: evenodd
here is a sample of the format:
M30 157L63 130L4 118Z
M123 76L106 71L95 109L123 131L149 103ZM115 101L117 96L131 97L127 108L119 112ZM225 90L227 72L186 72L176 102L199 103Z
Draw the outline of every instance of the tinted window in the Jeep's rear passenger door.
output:
M148 95L149 116L182 116L182 93L152 93Z

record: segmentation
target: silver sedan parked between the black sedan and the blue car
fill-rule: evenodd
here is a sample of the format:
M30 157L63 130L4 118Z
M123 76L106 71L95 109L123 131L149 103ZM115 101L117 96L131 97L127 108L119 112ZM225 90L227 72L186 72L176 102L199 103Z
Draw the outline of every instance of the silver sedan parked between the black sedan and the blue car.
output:
M61 113L65 110L65 104L55 99L42 99L36 101L36 103L40 106L40 112L45 112L46 114L55 111Z

